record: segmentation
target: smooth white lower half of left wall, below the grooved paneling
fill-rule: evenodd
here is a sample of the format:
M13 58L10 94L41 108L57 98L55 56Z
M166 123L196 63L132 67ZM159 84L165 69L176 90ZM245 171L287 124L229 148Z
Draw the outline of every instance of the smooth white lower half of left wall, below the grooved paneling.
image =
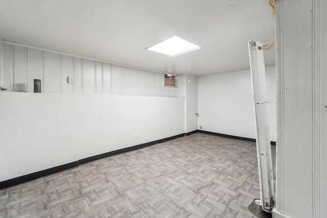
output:
M184 133L184 99L0 92L0 181Z

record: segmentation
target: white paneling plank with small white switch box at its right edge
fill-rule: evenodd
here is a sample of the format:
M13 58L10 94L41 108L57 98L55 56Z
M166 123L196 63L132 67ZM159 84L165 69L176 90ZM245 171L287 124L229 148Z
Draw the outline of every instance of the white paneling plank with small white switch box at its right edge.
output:
M68 83L68 77L74 77L74 62L73 57L62 55L62 92L73 93L74 84ZM75 82L75 81L74 81Z

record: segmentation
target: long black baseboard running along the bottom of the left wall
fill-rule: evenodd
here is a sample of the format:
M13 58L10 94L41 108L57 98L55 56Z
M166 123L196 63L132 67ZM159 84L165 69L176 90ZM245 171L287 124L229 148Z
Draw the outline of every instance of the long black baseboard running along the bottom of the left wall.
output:
M9 188L11 186L15 186L15 185L18 185L21 183L26 183L26 182L29 182L29 181L32 181L32 180L35 180L35 179L38 179L38 178L41 178L44 176L49 176L51 174L59 173L59 172L65 171L67 169L74 168L76 166L79 166L81 164L85 164L85 163L88 163L91 161L99 160L99 159L110 157L110 156L117 155L117 154L122 154L122 153L133 151L136 149L142 149L142 148L145 148L148 146L152 146L153 144L170 141L170 140L180 138L183 136L185 136L184 133L175 135L175 136L171 136L168 138L162 138L159 140L150 141L150 142L143 143L143 144L138 144L137 146L132 146L132 147L128 147L128 148L124 148L124 149L120 149L120 150L116 150L116 151L112 151L112 152L107 152L104 154L99 154L99 155L92 156L92 157L87 157L87 158L77 160L77 161L74 161L71 163L66 163L66 164L63 164L60 166L55 166L55 167L52 167L49 169L44 169L43 171L39 171L36 173L32 173L32 174L16 177L13 179L5 180L5 181L0 182L0 190L4 189L4 188Z

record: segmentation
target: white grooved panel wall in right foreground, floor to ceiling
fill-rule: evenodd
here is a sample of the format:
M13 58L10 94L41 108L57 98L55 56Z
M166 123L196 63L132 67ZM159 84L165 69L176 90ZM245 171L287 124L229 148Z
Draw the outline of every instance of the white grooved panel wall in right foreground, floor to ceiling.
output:
M276 211L325 217L327 3L276 1Z

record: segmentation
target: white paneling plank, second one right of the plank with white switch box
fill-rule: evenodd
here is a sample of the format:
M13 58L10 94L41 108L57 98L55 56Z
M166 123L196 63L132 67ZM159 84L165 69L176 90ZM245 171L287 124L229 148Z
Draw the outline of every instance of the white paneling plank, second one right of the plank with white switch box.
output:
M83 93L95 93L95 63L83 59Z

